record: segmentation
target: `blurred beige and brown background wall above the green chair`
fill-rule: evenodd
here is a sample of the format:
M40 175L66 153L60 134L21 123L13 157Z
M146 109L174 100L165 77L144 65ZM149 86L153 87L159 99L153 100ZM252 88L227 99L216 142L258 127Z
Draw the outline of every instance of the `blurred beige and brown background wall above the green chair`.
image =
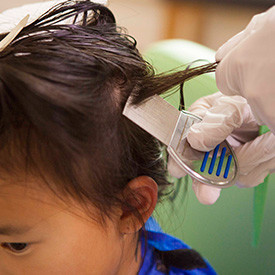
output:
M1 1L0 12L34 0ZM141 51L152 42L184 38L217 50L274 0L109 0L119 25Z

